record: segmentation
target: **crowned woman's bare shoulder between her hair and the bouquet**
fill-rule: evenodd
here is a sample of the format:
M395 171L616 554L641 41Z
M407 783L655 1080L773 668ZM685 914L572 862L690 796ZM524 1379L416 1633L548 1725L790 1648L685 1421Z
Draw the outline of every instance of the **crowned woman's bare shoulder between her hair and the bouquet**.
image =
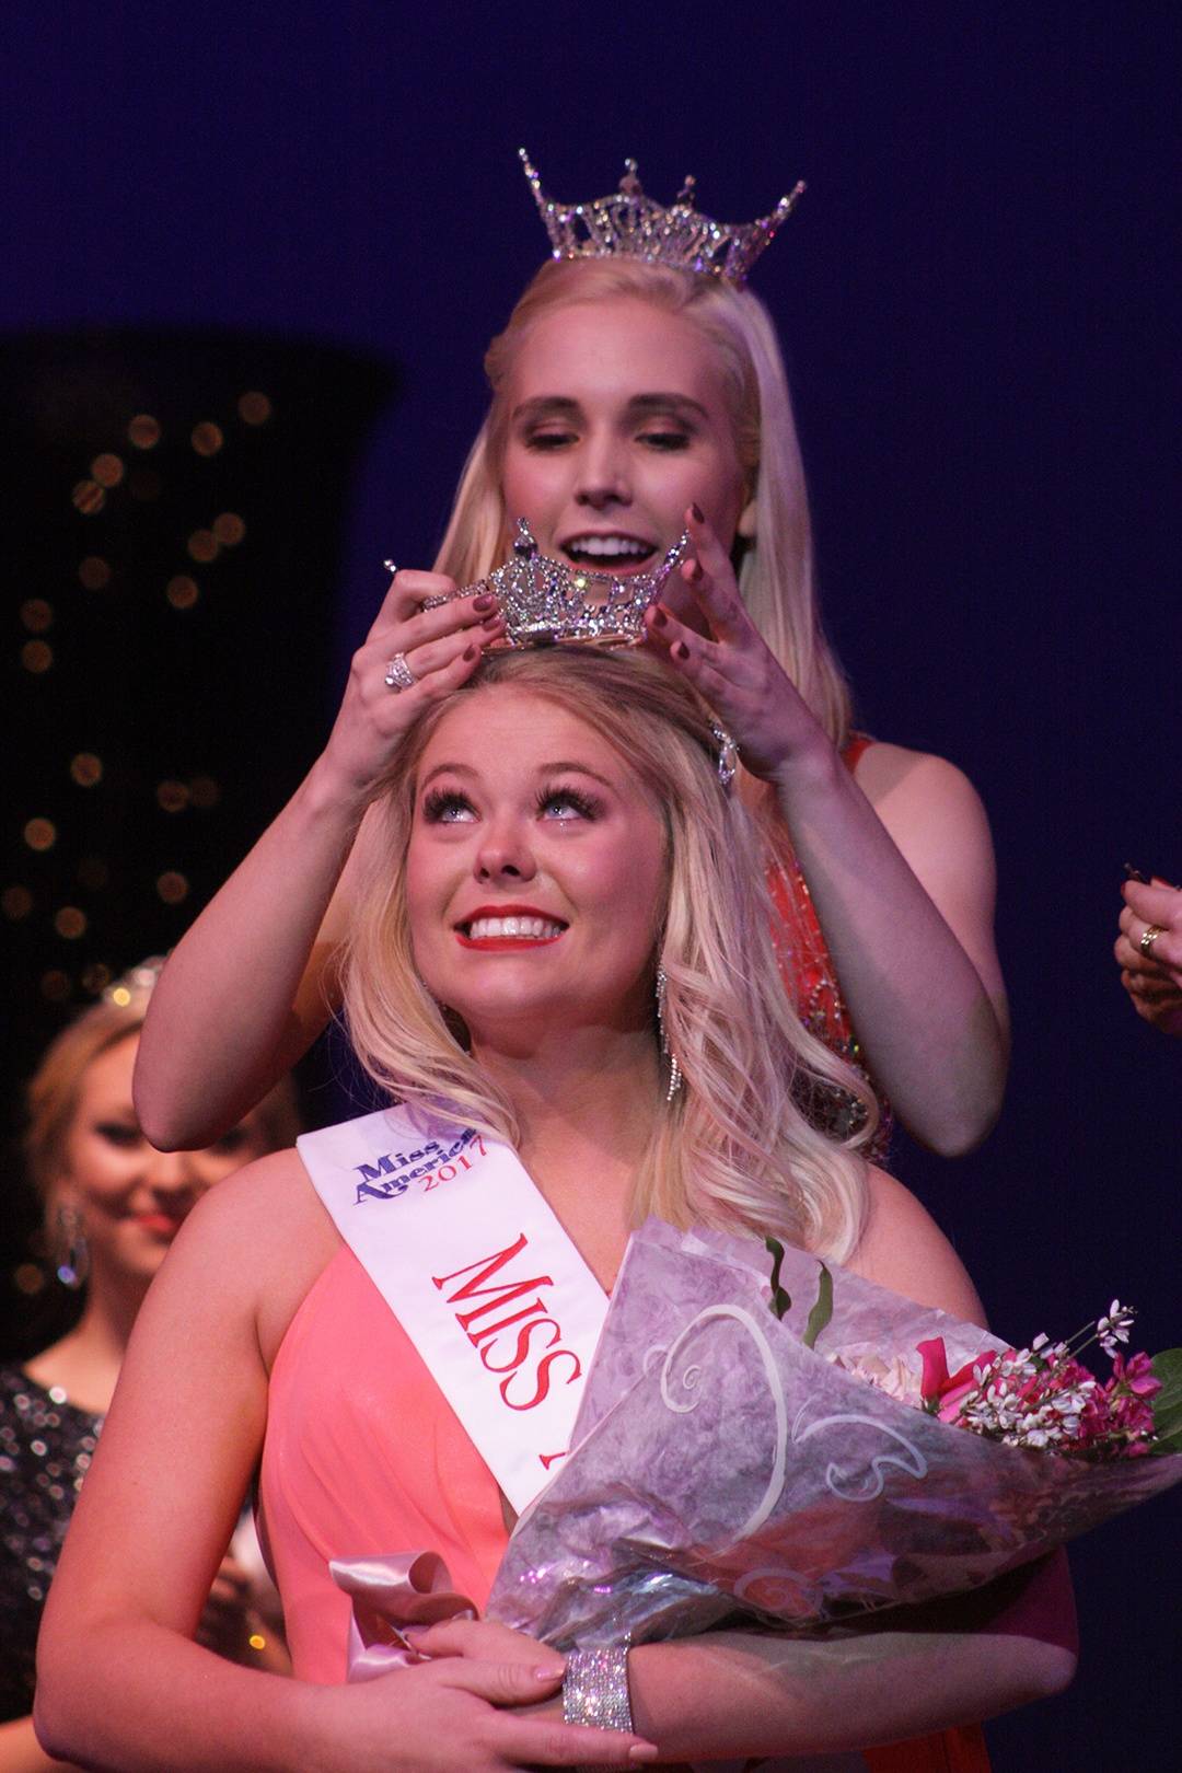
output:
M948 1238L911 1190L886 1170L870 1170L867 1225L847 1268L918 1305L985 1323L976 1287Z

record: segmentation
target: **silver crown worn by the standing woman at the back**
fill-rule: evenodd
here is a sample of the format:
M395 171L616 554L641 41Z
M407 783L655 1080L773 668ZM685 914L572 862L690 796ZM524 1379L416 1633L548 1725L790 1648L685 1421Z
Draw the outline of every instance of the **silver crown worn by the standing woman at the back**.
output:
M680 271L719 277L743 289L748 271L776 229L792 215L805 190L799 183L782 197L767 216L757 222L712 222L693 207L695 181L686 179L666 209L645 197L636 176L636 161L624 161L618 191L595 197L588 204L556 204L542 191L542 181L523 147L517 149L533 202L549 234L555 259L643 259L645 264L672 264Z

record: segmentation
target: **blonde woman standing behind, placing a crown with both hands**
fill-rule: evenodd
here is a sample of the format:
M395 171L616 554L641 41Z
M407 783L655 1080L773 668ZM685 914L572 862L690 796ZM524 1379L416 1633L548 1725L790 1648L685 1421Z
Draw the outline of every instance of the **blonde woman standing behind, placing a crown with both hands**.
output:
M493 402L434 571L395 573L326 750L172 956L140 1057L144 1122L165 1145L213 1136L324 1027L365 808L424 707L503 638L487 592L424 601L503 562L525 518L542 555L618 578L650 571L689 530L647 644L737 741L789 995L918 1140L969 1151L998 1115L1008 1060L989 826L953 766L851 727L773 323L718 266L686 268L698 262L688 239L743 230L684 202L663 211L634 181L579 222L526 170L556 257L489 348ZM755 246L743 243L746 269ZM248 995L234 989L243 970ZM840 1090L813 1112L836 1129L865 1115ZM870 1121L881 1152L888 1115L877 1135Z

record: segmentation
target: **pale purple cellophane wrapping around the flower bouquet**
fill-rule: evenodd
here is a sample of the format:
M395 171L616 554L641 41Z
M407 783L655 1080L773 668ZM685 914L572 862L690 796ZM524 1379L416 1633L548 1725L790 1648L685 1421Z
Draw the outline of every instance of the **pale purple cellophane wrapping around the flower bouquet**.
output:
M976 1324L787 1250L769 1307L755 1238L631 1239L572 1450L523 1512L489 1617L556 1649L680 1636L735 1612L815 1629L976 1589L1182 1477L1182 1456L1093 1464L982 1440L829 1356L948 1365L1005 1347Z

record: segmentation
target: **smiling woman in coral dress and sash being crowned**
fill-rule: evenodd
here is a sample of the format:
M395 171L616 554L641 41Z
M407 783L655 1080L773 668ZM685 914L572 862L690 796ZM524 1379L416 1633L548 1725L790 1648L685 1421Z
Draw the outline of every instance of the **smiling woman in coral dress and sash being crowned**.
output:
M358 839L342 979L358 1053L400 1106L252 1165L177 1239L50 1597L44 1741L124 1773L734 1755L980 1773L978 1732L948 1727L1070 1679L1061 1558L886 1628L721 1629L606 1661L464 1615L509 1502L567 1445L645 1215L773 1232L969 1319L980 1305L920 1204L867 1165L872 1113L838 1138L797 1106L810 1085L870 1092L785 1000L762 839L686 681L643 649L558 645L425 683L392 699L418 718ZM292 1681L191 1642L261 1449ZM418 1550L457 1592L411 1613L427 1629L402 1667L356 1656L358 1573L385 1597L390 1555ZM948 1734L900 1743L930 1730ZM861 1753L875 1743L897 1746Z

